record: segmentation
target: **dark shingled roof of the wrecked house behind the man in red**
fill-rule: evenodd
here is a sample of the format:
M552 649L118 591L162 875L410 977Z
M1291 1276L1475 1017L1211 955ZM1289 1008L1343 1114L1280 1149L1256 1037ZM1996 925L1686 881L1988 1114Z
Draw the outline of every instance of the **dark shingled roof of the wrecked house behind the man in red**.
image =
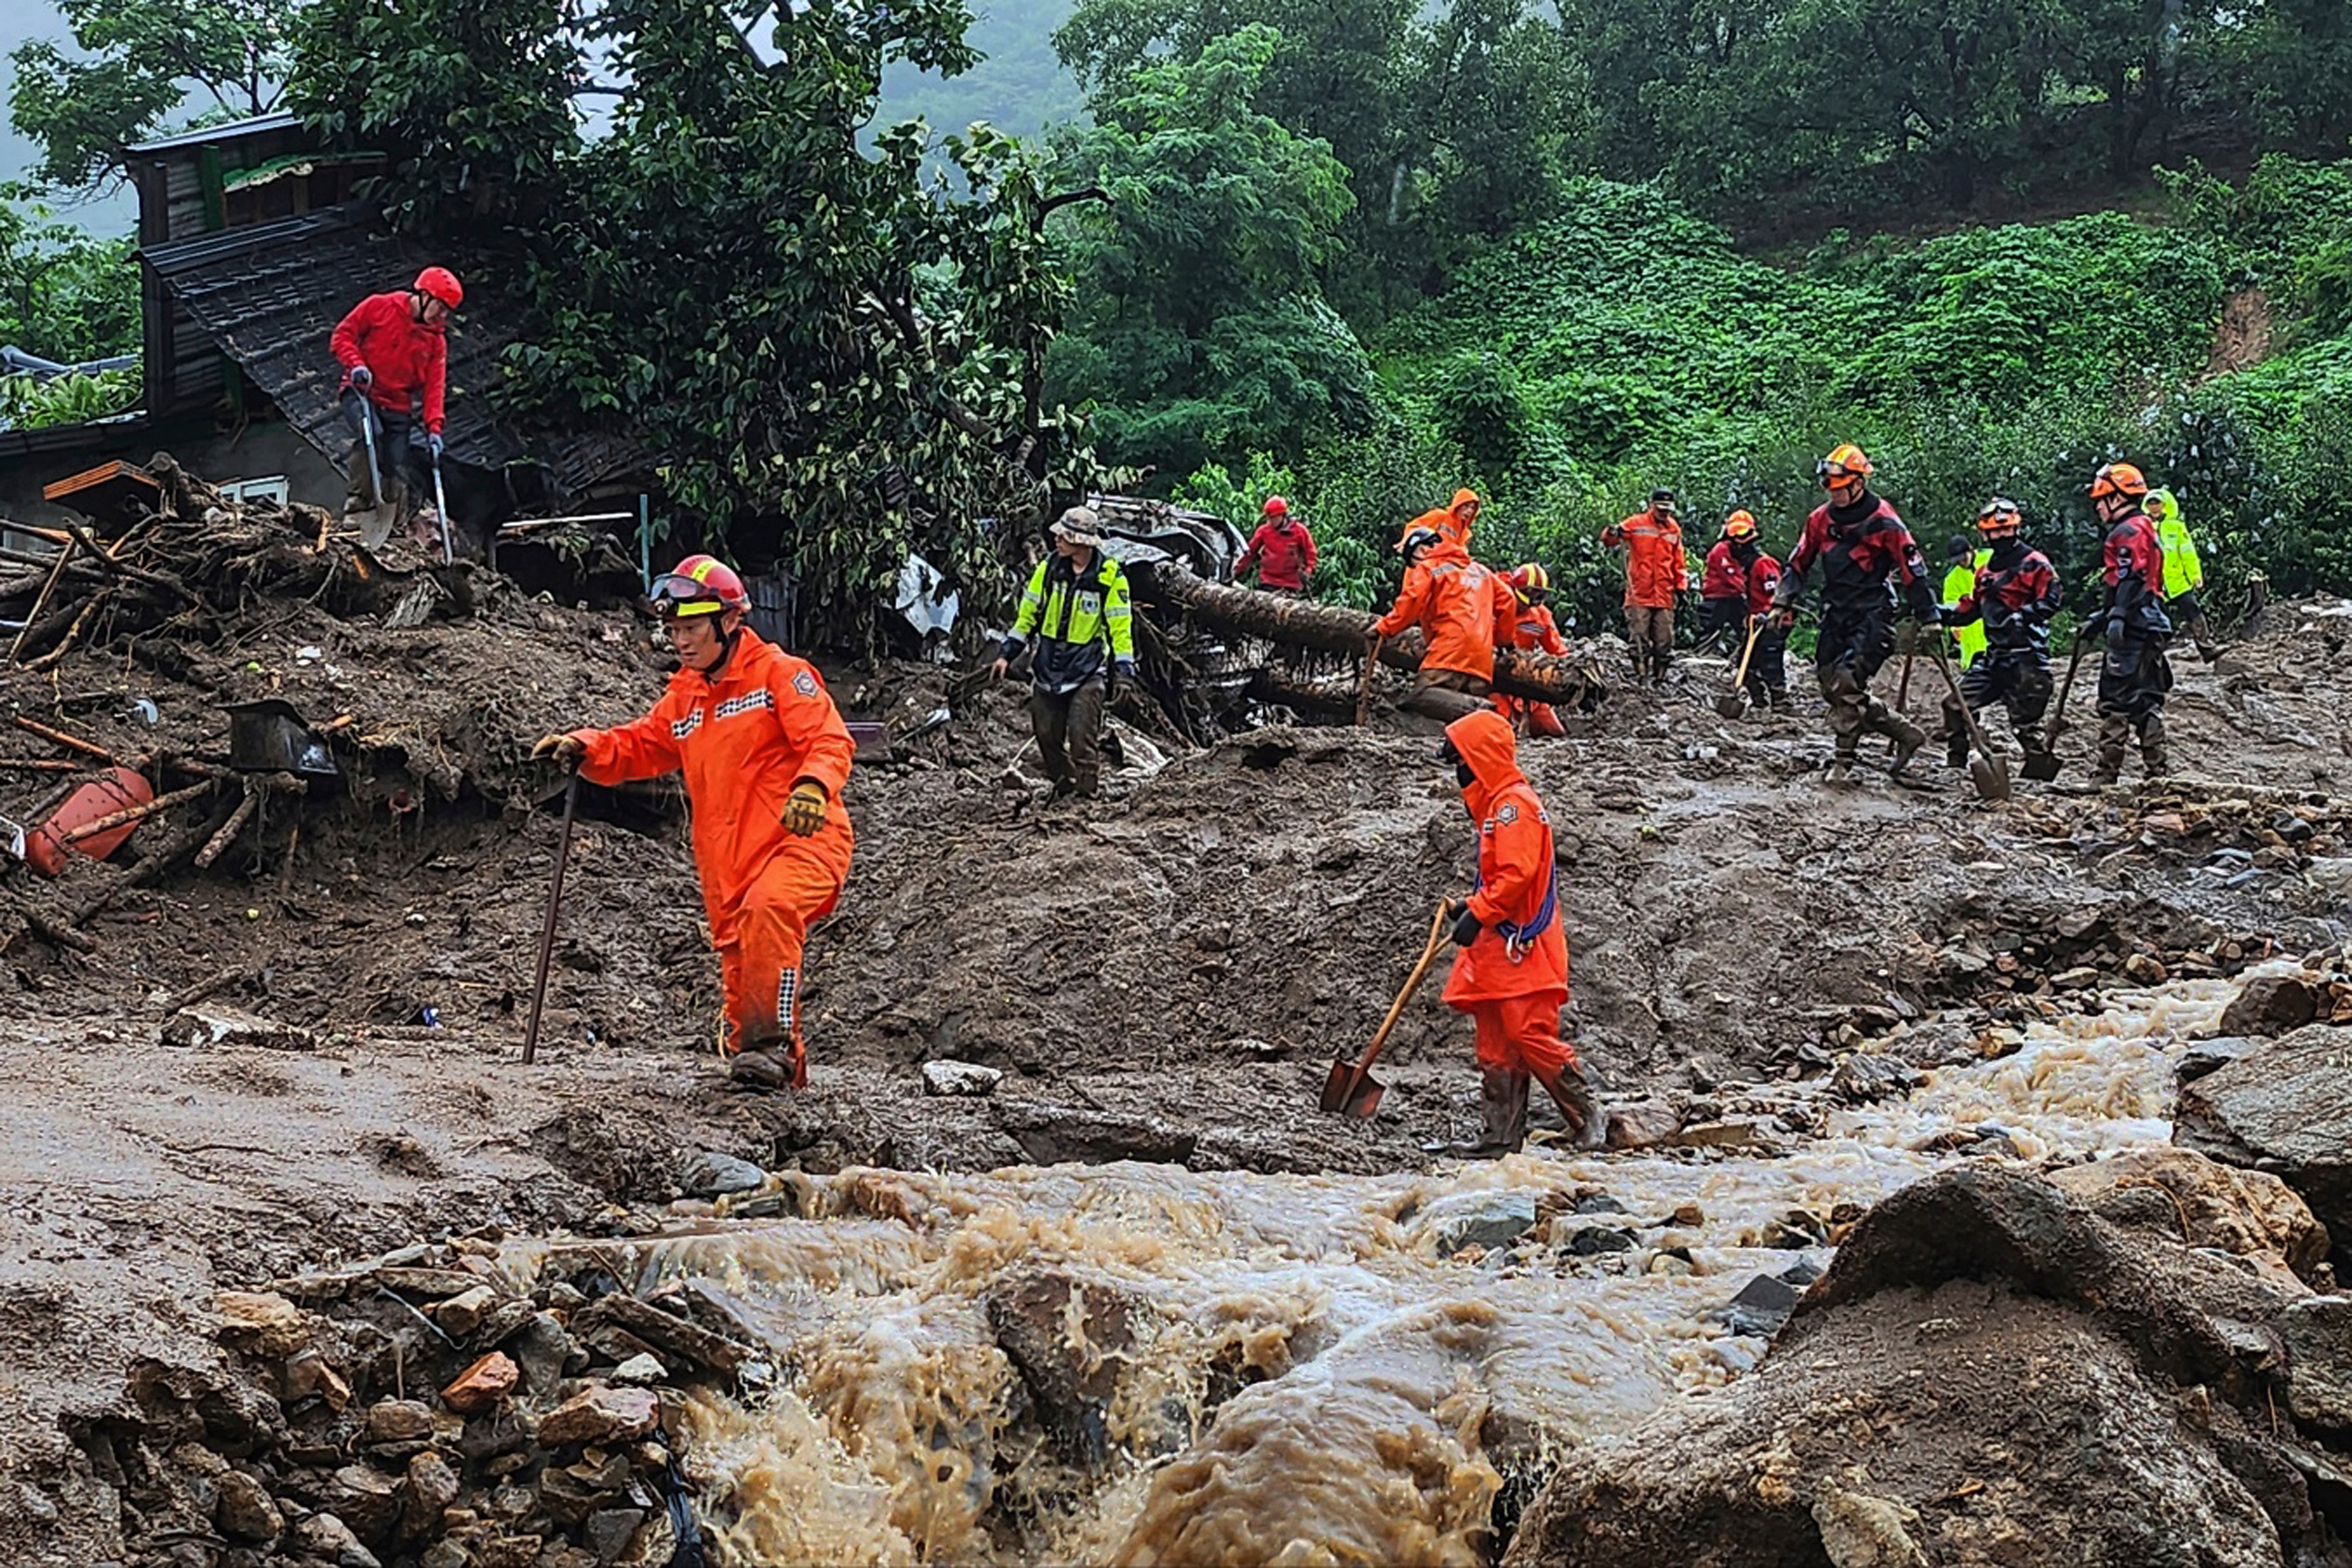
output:
M341 465L350 435L334 393L343 378L327 339L369 294L405 289L435 256L386 235L365 205L230 228L141 252L172 296L245 367L303 437ZM522 435L492 418L487 388L513 341L520 310L466 284L466 308L449 331L449 458L501 470L539 465L562 498L604 480L637 475L654 458L604 433Z

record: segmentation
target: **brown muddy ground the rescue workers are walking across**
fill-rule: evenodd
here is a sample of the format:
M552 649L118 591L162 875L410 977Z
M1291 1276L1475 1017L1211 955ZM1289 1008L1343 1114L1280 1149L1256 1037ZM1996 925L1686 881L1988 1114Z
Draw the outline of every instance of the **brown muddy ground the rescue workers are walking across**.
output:
M5 1561L103 1561L111 1505L59 1413L103 1403L139 1354L209 1354L216 1286L475 1227L626 1225L677 1194L696 1150L1381 1171L1475 1119L1468 1032L1435 987L1390 1046L1381 1117L1312 1110L1472 867L1425 724L1275 724L1209 750L1162 736L1162 771L1042 806L1007 771L1025 719L1004 686L851 783L858 858L811 954L807 1095L743 1098L715 1072L715 961L668 785L583 790L546 1037L522 1067L560 804L524 752L640 710L663 665L628 611L492 574L463 574L423 625L381 621L261 602L223 637L96 642L0 684L12 712L125 755L221 757L219 705L252 696L313 724L353 715L346 788L273 799L207 872L122 891L80 926L89 952L45 931L122 865L75 860L56 884L19 867L0 896ZM1616 693L1529 752L1588 1060L1618 1095L1809 1074L1889 1034L1936 1060L2070 1006L2070 971L2230 971L2343 943L2347 635L2345 607L2274 607L2223 665L2183 661L2185 778L2157 788L2084 788L2079 689L2067 776L2009 806L1936 769L1926 788L1828 790L1818 703L1724 722L1698 661L1663 696ZM851 717L901 733L950 686L924 665L828 675ZM0 736L7 757L61 755ZM0 773L9 816L52 783ZM146 825L132 856L174 832ZM162 1044L167 1004L205 983L303 1030L296 1048ZM924 1098L931 1058L1004 1079Z

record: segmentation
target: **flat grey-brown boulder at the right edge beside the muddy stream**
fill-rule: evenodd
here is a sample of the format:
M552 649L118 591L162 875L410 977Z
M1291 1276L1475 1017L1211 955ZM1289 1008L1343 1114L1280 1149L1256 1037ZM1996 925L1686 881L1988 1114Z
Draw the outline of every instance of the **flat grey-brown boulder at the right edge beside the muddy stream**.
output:
M2281 1178L2343 1248L2352 1241L2352 1030L2296 1030L2183 1084L2173 1143Z

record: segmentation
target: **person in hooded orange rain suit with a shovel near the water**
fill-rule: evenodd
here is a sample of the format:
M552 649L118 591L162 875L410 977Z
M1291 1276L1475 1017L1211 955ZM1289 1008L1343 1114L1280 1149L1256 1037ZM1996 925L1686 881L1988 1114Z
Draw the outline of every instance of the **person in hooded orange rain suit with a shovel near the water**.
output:
M1576 1046L1559 1039L1569 1001L1569 938L1559 926L1552 818L1519 771L1517 743L1498 712L1446 724L1439 757L1454 764L1477 823L1477 886L1454 905L1454 973L1446 1006L1477 1027L1479 1140L1456 1154L1498 1157L1526 1140L1526 1086L1559 1105L1569 1135L1595 1150L1609 1133Z

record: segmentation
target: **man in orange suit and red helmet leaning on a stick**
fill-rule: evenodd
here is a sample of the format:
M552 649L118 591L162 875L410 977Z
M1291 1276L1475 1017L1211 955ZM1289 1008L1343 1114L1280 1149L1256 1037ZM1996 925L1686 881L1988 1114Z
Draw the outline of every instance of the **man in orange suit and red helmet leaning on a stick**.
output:
M602 785L687 776L729 1074L746 1088L802 1088L800 954L849 877L842 788L856 745L823 677L743 625L750 595L729 567L689 555L654 578L652 602L680 658L654 710L548 736L532 755L576 762Z

